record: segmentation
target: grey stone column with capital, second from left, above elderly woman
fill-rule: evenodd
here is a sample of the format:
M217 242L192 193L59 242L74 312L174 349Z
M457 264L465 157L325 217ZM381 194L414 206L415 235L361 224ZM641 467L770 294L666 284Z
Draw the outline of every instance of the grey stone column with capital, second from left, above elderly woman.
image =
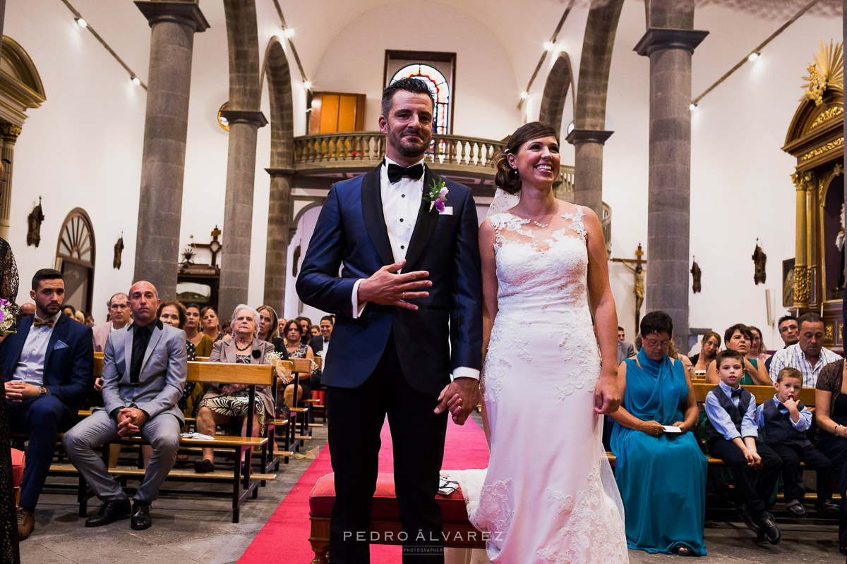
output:
M228 319L238 304L246 304L250 284L250 240L253 225L253 183L256 180L256 138L268 120L262 112L227 110L230 145L226 161L224 247L220 258L218 315Z

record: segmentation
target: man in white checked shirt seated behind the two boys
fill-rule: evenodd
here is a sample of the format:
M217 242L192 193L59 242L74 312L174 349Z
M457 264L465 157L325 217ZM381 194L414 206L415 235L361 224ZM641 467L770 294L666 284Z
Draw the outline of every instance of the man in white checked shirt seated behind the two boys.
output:
M791 366L800 370L803 375L803 386L814 387L817 376L827 364L838 362L841 357L823 346L823 319L815 313L800 315L797 320L800 327L800 341L790 347L783 348L773 355L771 362L771 378L777 381L779 370Z

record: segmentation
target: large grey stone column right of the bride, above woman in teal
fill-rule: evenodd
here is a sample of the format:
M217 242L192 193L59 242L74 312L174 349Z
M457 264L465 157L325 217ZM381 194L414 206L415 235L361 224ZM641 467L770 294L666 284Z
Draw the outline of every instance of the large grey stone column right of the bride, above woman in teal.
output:
M688 350L691 188L691 55L707 31L691 30L694 0L655 0L656 14L635 51L650 57L650 158L647 202L647 311L673 318ZM658 17L654 17L657 15ZM687 27L688 29L678 29ZM673 29L677 28L677 29Z

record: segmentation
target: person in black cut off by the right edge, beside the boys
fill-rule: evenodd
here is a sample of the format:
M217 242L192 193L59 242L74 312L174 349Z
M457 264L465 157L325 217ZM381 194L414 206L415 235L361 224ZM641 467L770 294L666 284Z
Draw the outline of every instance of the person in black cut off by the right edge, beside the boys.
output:
M842 326L841 338L847 338L847 327ZM774 355L776 356L776 355ZM847 554L847 393L844 378L847 368L844 359L827 364L821 369L815 385L815 419L817 441L815 448L832 461L839 479L841 517L839 520L839 546Z

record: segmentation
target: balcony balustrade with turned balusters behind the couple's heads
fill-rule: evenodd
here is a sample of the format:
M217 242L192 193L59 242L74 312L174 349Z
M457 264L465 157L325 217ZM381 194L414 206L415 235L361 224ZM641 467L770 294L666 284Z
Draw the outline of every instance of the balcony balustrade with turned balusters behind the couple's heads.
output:
M492 162L506 148L502 141L433 134L427 161L444 172L475 173L494 177ZM375 167L385 155L385 135L379 131L354 131L302 135L294 138L295 170ZM562 187L557 192L573 197L573 167L562 166Z

